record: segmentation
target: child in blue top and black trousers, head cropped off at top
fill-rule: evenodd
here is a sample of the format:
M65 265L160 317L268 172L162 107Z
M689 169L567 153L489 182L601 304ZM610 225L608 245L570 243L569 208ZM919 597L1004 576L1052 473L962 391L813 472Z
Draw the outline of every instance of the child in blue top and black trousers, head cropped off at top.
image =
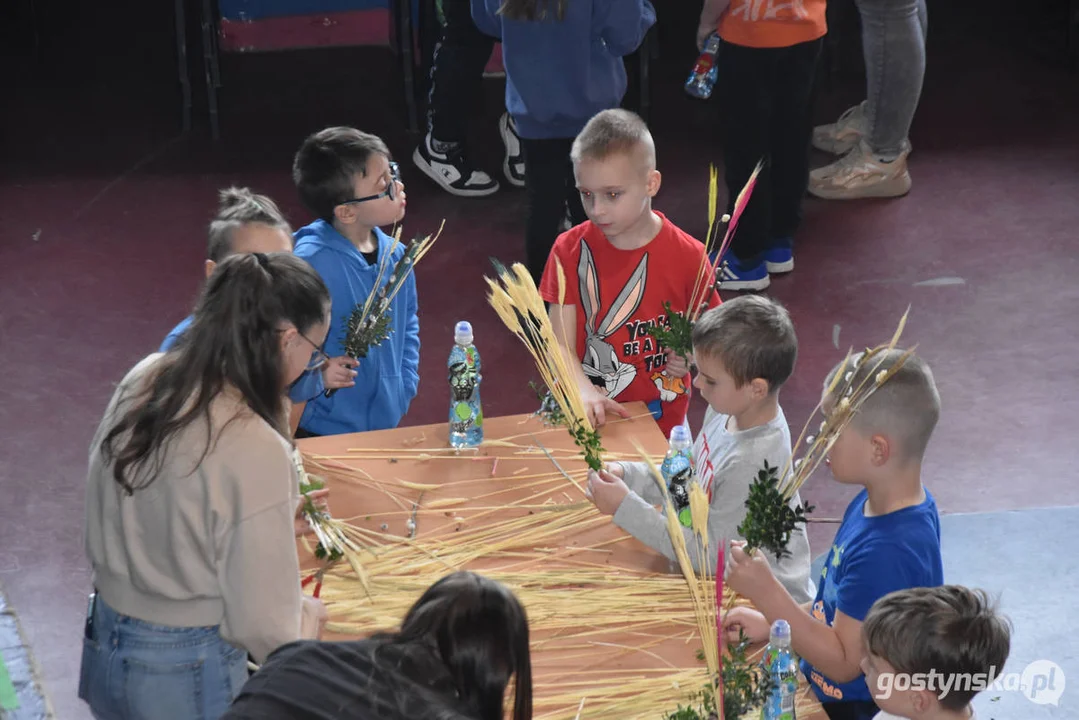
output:
M536 284L569 209L587 217L570 149L592 116L622 105L623 57L656 22L648 0L472 0L481 31L502 40L506 109L524 151L524 249Z

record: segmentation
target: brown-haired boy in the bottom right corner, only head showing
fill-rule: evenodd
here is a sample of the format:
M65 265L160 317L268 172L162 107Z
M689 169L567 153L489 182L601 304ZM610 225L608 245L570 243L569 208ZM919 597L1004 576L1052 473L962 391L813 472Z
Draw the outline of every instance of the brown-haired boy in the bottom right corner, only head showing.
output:
M917 587L874 602L862 640L874 720L974 720L970 702L1003 669L1011 625L984 590Z

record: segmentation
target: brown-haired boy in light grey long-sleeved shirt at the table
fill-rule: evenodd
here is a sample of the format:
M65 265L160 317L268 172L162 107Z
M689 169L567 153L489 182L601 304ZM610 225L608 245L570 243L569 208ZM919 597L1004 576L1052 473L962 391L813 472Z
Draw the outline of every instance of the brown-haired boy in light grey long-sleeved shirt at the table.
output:
M735 298L702 314L693 328L699 370L694 384L708 402L693 448L696 481L709 499L706 557L700 557L692 528L682 531L697 572L714 572L724 541L740 536L738 526L746 519L746 500L757 472L766 462L782 467L790 460L791 433L779 390L794 370L797 349L787 310L765 297ZM604 473L592 473L589 492L600 512L614 516L615 525L677 561L666 519L654 507L664 497L644 463L616 463ZM670 494L677 506L679 495L685 499L677 487ZM791 499L792 505L801 502L797 493ZM807 602L815 588L804 527L795 529L788 551L783 558L769 555L768 560L791 596Z

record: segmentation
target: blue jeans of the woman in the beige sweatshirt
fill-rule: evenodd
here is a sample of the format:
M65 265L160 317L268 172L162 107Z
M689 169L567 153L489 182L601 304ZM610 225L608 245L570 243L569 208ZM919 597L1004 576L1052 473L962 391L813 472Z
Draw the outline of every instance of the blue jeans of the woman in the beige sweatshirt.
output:
M98 720L217 720L247 680L247 653L214 627L165 627L100 597L82 644L79 697Z

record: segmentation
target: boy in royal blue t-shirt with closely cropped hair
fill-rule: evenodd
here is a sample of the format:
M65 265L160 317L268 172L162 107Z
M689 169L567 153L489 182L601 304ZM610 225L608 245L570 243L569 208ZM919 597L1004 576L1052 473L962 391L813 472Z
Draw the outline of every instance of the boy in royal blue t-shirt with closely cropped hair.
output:
M892 350L874 356L852 370L852 385L873 382L872 375L893 367L901 355ZM825 421L834 407L835 398L825 395ZM860 667L862 622L873 603L894 590L944 582L937 503L921 485L921 460L939 418L932 373L911 356L839 434L828 457L832 474L862 490L844 513L811 603L798 606L761 554L750 558L740 543L732 546L727 583L756 610L733 609L724 629L762 640L774 621L790 622L802 671L830 718L870 720L879 710Z

